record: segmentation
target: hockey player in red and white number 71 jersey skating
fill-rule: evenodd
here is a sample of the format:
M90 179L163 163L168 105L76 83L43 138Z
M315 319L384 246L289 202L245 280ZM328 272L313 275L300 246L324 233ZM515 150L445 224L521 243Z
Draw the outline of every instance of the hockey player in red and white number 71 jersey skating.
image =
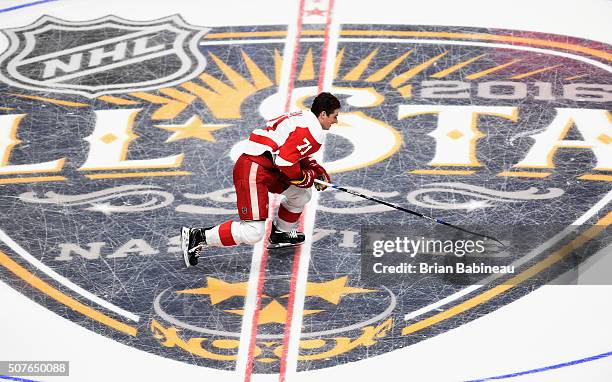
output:
M310 110L283 114L254 130L234 165L234 187L240 221L214 227L181 230L186 266L198 263L206 246L229 247L255 244L263 239L268 218L268 192L284 196L272 223L269 248L304 242L296 226L310 200L311 187L319 191L316 178L330 182L327 171L312 158L321 148L323 130L338 122L340 101L330 93L319 94Z

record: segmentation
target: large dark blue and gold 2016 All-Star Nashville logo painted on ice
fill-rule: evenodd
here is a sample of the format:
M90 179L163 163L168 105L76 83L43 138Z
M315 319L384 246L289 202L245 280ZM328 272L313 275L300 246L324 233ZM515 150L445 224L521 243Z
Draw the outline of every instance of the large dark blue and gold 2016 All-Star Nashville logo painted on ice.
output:
M284 110L285 29L45 16L3 32L2 280L129 346L234 369L253 248L208 248L185 269L179 232L237 219L240 141ZM317 91L319 40L300 44L292 109ZM610 241L609 52L531 32L342 26L330 70L343 107L324 161L332 180L520 245L488 251L452 230L448 243L433 240L430 221L319 194L300 370L452 330ZM409 235L389 236L400 226ZM285 351L292 266L293 252L269 253L257 373L278 371Z

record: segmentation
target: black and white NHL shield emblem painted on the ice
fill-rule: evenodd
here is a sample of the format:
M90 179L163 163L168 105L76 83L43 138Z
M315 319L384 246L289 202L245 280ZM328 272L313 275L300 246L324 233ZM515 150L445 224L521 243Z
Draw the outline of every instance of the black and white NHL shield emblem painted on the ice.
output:
M0 57L0 81L88 98L169 87L204 70L206 59L197 45L209 30L179 15L146 22L43 16L3 31L9 47Z

